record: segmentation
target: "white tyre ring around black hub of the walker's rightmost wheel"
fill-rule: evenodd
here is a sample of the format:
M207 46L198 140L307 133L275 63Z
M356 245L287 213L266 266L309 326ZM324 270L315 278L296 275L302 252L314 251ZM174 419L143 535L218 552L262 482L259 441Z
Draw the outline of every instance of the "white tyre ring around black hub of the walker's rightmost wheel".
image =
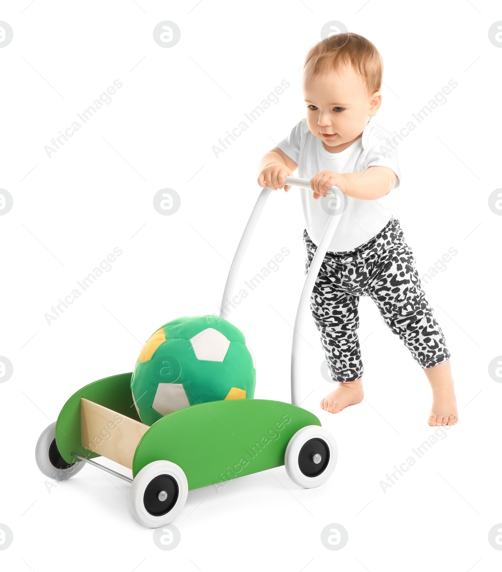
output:
M317 476L305 475L298 464L301 448L306 442L310 441L310 439L321 439L329 449L328 464L324 468L324 471ZM286 472L288 473L289 478L294 483L301 487L313 488L320 486L329 479L334 471L334 467L336 466L337 458L338 448L333 435L324 427L308 425L298 430L289 440L288 447L286 447L286 453L284 455L284 466L286 467Z

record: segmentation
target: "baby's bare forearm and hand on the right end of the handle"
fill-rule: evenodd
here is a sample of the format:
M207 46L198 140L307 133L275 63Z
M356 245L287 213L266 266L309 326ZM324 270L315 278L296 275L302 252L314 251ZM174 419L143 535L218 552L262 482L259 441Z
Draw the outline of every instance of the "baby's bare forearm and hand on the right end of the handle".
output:
M314 198L325 197L328 189L336 185L348 197L370 201L389 194L396 181L396 173L391 168L374 165L358 173L321 171L310 179L310 187Z

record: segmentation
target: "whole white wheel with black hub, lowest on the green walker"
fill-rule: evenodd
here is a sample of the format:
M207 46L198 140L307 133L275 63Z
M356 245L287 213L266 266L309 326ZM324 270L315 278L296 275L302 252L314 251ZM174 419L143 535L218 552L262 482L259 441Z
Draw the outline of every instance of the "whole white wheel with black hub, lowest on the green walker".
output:
M168 525L181 513L188 495L185 472L176 463L149 463L134 477L129 491L133 517L150 528Z

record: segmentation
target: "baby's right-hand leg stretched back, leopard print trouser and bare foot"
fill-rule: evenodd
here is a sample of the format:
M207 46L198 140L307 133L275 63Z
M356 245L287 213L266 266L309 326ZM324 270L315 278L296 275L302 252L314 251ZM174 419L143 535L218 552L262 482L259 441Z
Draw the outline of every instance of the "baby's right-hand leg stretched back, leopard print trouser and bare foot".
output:
M413 253L402 232L397 236L375 265L370 296L385 323L404 341L431 384L433 401L428 424L455 425L459 416L450 353L421 289Z

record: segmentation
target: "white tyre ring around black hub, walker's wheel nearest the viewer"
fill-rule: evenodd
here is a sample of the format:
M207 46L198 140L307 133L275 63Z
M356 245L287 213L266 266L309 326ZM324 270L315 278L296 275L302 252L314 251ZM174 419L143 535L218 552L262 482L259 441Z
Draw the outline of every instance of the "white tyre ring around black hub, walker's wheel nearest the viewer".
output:
M145 508L144 496L150 482L160 475L168 475L176 481L178 486L178 498L168 513L157 516L150 514ZM161 493L165 491L158 492ZM143 467L134 477L129 491L129 509L139 523L150 528L157 528L158 526L168 525L174 521L185 506L187 495L188 480L186 479L183 469L176 463L158 460ZM159 500L161 499L164 501L165 495L162 494Z

